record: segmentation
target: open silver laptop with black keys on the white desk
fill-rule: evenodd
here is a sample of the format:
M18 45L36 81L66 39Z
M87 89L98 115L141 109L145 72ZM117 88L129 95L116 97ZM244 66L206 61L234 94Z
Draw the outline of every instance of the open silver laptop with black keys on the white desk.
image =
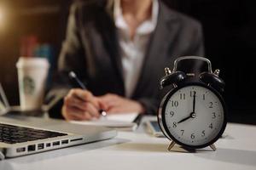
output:
M3 90L0 91L3 98ZM6 99L0 102L3 107ZM7 113L0 116L0 160L112 139L117 135L116 130L107 127L17 116L9 114L8 108L5 110Z

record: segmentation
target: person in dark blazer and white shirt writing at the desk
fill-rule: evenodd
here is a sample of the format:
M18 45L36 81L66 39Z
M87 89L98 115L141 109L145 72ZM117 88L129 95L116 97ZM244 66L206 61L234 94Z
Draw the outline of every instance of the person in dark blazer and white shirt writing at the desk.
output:
M89 90L55 80L49 96L67 95L49 114L67 120L90 120L99 109L155 114L163 69L179 56L203 53L201 25L159 0L74 3L58 73L75 71Z

